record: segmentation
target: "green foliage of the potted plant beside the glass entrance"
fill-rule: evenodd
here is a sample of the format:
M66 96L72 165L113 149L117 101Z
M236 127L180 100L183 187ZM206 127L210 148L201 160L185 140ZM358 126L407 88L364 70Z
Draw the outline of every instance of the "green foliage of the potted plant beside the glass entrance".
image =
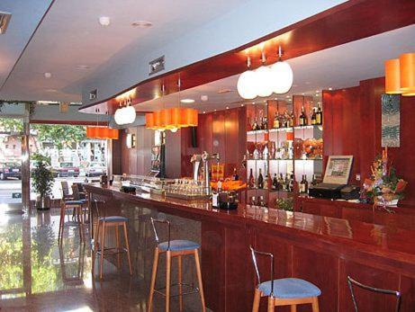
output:
M52 186L55 182L55 178L50 170L50 157L34 154L32 159L35 161L35 167L32 170L32 186L41 198L45 198L51 194Z

